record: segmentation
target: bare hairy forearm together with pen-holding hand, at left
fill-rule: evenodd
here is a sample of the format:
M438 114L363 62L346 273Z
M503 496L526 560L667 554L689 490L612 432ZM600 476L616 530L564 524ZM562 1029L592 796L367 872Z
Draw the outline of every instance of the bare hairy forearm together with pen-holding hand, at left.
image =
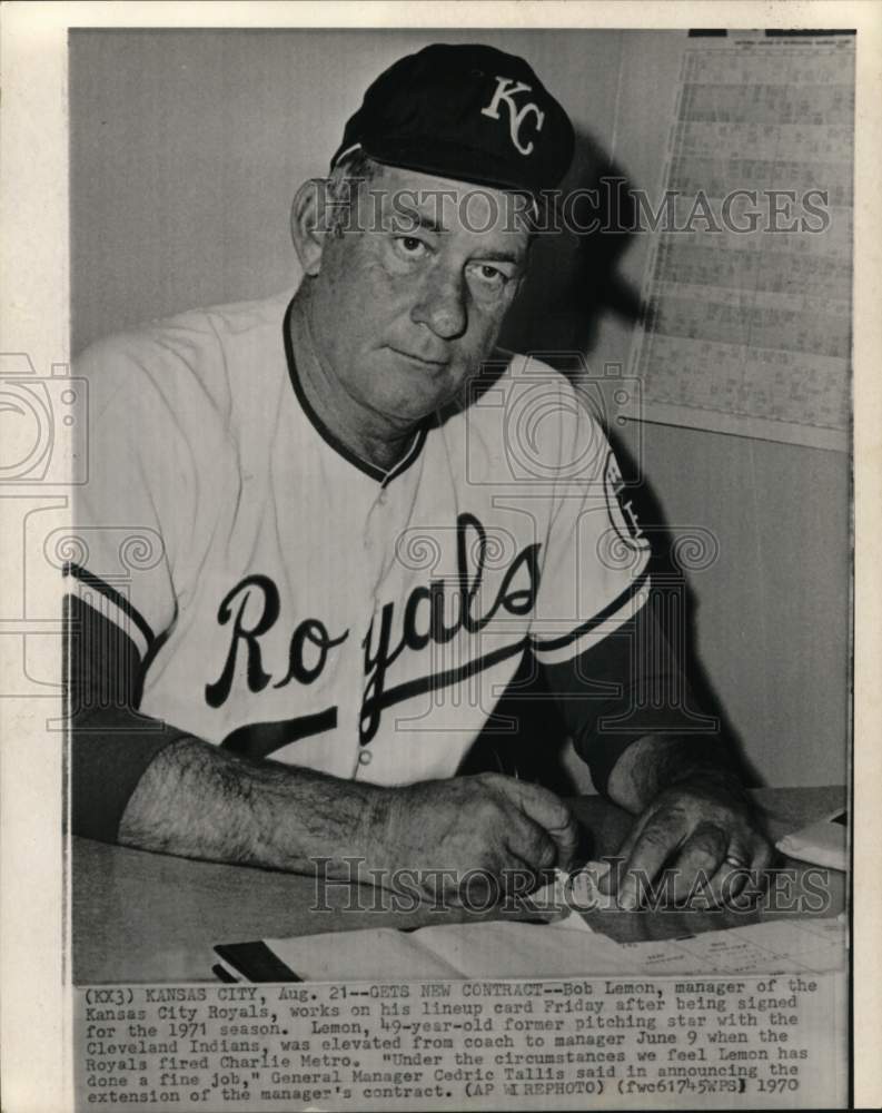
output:
M327 877L351 877L356 857L367 883L395 888L407 870L412 892L417 878L425 897L449 900L463 879L525 892L529 875L571 865L577 835L553 792L498 774L387 788L195 738L153 758L119 828L126 846L291 873L321 860Z

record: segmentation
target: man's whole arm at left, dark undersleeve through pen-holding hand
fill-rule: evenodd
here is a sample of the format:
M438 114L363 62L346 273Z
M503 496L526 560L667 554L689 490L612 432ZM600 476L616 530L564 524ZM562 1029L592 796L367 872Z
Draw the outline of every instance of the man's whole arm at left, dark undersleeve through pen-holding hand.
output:
M398 787L341 780L232 755L151 719L137 707L131 639L76 595L66 619L75 835L290 871L311 873L321 859L327 876L347 879L359 858L375 884L398 869L443 870L453 888L469 870L499 877L572 857L575 820L537 786L493 775Z

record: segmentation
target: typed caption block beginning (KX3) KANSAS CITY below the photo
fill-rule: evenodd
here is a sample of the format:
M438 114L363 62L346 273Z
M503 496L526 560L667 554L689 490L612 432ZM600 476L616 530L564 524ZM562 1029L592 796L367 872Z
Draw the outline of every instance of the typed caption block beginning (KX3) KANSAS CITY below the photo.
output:
M91 986L77 1109L844 1107L841 974Z

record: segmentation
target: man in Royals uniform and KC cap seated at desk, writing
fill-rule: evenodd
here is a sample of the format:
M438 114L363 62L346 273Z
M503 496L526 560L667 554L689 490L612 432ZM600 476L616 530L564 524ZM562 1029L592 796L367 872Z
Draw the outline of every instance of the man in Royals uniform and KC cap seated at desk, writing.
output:
M624 906L637 871L675 866L685 893L703 870L719 898L767 865L729 748L694 730L603 430L495 346L572 154L523 59L428 47L298 193L296 290L83 354L75 833L331 875L360 856L453 890L567 867L554 794L456 776L527 662L638 817Z

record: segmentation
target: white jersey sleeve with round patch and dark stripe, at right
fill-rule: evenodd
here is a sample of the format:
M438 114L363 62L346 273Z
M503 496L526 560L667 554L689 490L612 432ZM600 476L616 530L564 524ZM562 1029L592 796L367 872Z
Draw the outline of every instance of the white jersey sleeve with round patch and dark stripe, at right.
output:
M568 384L531 648L544 664L578 657L648 598L650 544L599 423Z

